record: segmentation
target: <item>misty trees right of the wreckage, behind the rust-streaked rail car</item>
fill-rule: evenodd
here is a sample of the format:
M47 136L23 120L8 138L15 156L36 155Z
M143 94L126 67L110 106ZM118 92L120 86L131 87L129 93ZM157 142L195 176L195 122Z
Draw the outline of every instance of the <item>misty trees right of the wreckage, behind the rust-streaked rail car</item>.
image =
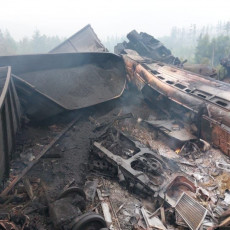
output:
M230 55L230 21L200 28L173 27L169 36L159 40L182 60L218 68L220 59Z

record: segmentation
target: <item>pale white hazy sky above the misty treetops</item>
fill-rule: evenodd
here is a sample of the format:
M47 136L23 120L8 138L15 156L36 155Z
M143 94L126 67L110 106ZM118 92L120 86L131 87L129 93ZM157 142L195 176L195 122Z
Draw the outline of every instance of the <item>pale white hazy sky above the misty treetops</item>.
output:
M173 26L230 20L230 0L0 0L0 29L20 39L38 29L68 37L91 24L99 38L132 29L155 37Z

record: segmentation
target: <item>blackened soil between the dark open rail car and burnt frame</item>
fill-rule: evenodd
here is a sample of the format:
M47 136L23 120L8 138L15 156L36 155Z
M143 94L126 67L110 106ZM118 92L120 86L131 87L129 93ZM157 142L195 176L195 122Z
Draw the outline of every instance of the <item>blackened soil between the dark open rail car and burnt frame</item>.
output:
M89 175L87 164L90 163L88 159L91 139L98 137L105 131L95 132L96 126L89 117L98 123L103 123L113 120L118 115L130 112L136 118L147 118L151 111L151 109L147 110L147 105L141 95L129 91L119 99L85 110L61 114L48 123L43 122L36 124L36 126L26 125L20 138L18 137L20 144L17 146L19 149L18 159L15 159L14 162L17 163L13 164L17 166L17 169L12 168L12 172L14 175L19 175L20 167L22 170L26 166L19 155L27 156L27 154L32 153L32 155L37 156L45 145L49 144L68 123L80 115L80 119L75 125L45 154L45 156L59 155L60 158L41 158L27 175L29 178L40 178L45 184L49 202L55 201L66 185L73 182L73 185L83 187L86 177ZM20 162L21 165L19 165ZM33 212L29 216L31 221L34 221L39 227L38 229L53 229L48 213Z

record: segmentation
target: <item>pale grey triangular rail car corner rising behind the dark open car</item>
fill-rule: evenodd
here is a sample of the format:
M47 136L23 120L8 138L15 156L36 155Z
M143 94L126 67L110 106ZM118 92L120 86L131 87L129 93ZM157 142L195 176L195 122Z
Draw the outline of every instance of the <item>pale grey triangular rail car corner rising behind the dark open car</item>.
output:
M106 52L91 25L87 25L49 53Z

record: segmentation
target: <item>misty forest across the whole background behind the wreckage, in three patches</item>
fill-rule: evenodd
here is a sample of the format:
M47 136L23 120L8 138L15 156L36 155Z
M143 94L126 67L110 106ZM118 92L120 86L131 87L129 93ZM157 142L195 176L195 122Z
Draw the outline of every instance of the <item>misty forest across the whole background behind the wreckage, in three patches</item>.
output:
M219 60L230 54L230 21L203 27L173 27L170 35L157 39L181 60L220 68ZM46 36L36 30L32 37L16 41L9 31L0 30L0 55L47 53L64 40L58 36ZM108 36L102 43L113 52L113 47L124 40L127 41L125 35Z

